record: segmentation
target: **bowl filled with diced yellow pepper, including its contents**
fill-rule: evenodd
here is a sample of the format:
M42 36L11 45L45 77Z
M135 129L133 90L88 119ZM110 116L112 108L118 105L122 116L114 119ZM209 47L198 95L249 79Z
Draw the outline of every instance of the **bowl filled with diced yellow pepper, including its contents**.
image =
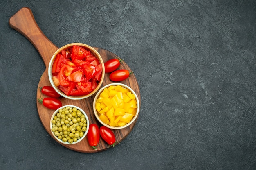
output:
M139 115L137 94L127 85L111 83L94 97L93 111L97 120L110 129L123 129Z

